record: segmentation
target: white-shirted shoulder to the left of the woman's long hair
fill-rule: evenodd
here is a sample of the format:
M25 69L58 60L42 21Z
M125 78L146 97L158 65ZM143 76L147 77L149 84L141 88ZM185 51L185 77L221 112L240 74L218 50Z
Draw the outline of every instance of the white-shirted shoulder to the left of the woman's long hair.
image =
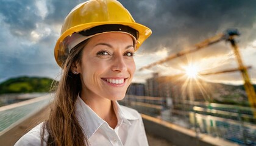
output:
M24 134L23 137L16 142L15 146L23 145L41 145L41 131L43 128L43 123L38 124L36 127L32 128L28 133ZM44 134L44 137L47 137L48 133Z

